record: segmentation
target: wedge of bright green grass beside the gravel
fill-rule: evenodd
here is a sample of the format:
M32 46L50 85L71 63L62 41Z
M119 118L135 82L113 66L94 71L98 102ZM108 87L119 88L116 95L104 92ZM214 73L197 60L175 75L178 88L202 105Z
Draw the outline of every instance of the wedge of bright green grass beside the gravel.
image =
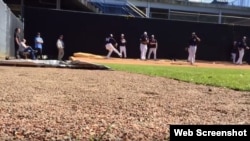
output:
M250 91L250 70L104 64L113 70L166 77L185 82Z

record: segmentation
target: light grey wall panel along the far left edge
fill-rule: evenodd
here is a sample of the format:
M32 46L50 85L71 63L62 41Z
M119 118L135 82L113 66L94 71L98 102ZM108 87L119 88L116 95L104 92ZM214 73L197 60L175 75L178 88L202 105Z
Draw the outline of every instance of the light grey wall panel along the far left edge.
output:
M14 31L17 27L23 31L23 23L3 1L0 1L0 17L0 57L14 56Z

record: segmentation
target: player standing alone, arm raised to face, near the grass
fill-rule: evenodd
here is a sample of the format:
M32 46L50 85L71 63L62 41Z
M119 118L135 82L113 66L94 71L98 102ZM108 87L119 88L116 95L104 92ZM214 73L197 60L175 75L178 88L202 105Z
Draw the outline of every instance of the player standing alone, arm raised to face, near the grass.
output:
M191 64L193 65L195 62L195 56L196 56L196 51L197 51L197 44L200 42L201 39L195 34L195 32L192 33L192 37L189 40L189 59Z

